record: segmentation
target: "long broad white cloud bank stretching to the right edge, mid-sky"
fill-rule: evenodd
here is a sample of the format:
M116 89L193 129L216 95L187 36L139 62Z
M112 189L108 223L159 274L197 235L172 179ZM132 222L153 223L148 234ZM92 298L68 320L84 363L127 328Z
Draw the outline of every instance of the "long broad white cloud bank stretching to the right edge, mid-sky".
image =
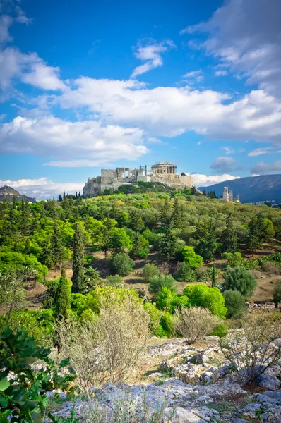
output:
M82 77L57 102L66 109L87 107L107 123L144 128L149 136L193 130L219 140L268 141L281 135L281 104L263 90L231 100L228 94L188 86L148 89L136 80Z

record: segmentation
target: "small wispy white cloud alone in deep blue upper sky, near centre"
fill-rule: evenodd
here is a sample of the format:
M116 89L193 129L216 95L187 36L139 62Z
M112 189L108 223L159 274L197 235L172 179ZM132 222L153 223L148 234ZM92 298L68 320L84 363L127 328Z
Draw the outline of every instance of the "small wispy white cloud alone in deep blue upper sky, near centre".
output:
M163 60L161 53L164 53L168 49L174 48L174 43L167 39L165 42L160 44L148 44L146 46L139 46L135 52L137 59L144 61L143 65L137 66L131 74L131 78L136 78L138 75L142 75L145 72L151 71L151 69L162 66Z

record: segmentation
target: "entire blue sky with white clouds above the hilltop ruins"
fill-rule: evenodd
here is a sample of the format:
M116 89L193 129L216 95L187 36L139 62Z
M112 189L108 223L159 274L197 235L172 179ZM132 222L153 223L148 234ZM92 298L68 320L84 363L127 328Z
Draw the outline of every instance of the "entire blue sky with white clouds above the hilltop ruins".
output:
M280 0L0 0L0 186L281 173Z

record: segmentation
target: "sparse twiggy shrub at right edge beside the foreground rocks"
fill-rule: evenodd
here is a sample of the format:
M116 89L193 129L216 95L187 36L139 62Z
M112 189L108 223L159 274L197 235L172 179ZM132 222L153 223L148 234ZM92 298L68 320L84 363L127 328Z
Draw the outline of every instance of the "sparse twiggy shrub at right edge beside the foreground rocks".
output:
M280 319L253 313L247 316L243 331L233 331L220 343L225 358L247 381L257 377L281 359ZM276 342L275 342L276 341Z

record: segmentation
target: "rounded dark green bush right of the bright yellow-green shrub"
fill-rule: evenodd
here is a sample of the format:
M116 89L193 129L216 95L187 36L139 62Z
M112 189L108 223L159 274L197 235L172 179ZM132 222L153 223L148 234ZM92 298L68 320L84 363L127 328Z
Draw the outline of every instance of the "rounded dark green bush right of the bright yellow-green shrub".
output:
M244 297L251 297L256 288L256 279L249 271L234 267L225 272L225 283L222 288L238 290Z

